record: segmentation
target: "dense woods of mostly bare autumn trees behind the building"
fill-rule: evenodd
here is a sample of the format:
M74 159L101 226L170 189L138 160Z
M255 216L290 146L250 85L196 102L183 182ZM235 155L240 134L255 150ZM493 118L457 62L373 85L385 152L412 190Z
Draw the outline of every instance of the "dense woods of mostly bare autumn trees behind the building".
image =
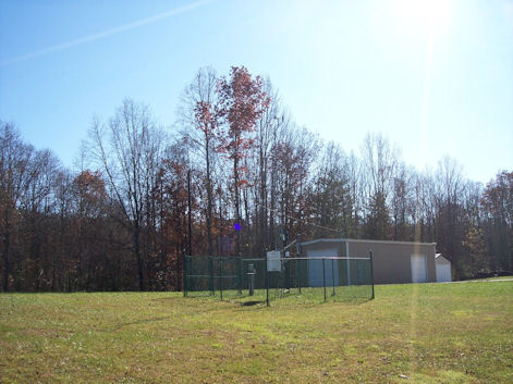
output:
M297 237L436 241L456 278L513 270L513 170L486 186L451 158L419 171L372 133L347 153L245 67L200 69L176 121L126 99L72 170L0 122L1 289L181 289L183 251L259 257Z

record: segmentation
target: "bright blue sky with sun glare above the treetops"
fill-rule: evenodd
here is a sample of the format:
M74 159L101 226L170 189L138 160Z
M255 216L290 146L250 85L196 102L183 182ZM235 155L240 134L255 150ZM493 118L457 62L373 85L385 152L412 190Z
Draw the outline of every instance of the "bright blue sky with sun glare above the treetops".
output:
M269 77L300 126L405 163L513 170L513 0L0 0L0 120L72 166L130 97L176 127L197 70Z

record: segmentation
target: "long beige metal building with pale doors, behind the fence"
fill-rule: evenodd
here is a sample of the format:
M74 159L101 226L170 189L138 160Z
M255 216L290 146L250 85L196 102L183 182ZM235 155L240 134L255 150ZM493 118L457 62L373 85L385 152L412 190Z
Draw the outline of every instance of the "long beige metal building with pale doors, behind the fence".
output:
M410 243L384 240L356 240L349 238L320 238L301 244L302 255L306 257L342 257L347 259L343 274L337 280L343 284L357 284L357 268L351 258L366 258L372 251L375 284L426 283L437 281L435 263L436 243ZM343 261L342 261L343 262ZM355 265L357 263L354 263ZM310 271L308 278L312 286L316 283L318 271ZM352 281L353 280L353 281Z

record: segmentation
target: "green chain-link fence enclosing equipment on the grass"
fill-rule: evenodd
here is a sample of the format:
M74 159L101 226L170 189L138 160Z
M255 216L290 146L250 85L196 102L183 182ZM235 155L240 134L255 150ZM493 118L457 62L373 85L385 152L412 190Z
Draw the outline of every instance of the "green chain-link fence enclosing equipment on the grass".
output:
M239 258L184 256L184 296L305 301L374 298L371 255L366 258ZM252 295L253 286L253 295Z

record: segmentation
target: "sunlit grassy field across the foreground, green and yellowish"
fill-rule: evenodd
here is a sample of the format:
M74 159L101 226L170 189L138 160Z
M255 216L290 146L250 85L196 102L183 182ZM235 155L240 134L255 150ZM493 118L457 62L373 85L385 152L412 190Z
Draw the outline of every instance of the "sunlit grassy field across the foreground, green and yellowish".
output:
M0 382L513 383L513 282L269 308L179 293L2 294Z

